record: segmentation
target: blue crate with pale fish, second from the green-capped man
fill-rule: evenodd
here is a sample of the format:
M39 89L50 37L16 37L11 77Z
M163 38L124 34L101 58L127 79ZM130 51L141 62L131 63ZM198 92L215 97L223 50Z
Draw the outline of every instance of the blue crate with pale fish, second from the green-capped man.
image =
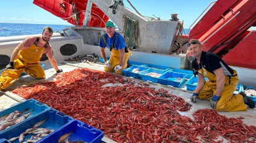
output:
M166 73L165 70L157 70L155 68L149 68L148 70L142 71L139 73L140 79L143 81L151 81L158 83L158 78Z

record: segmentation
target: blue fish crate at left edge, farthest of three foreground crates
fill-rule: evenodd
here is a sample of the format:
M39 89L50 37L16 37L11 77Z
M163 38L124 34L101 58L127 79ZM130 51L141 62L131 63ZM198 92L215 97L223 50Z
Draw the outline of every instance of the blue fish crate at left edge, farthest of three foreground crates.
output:
M50 109L48 106L34 99L26 100L25 102L19 103L8 109L5 109L0 112L0 133L5 132L5 128L8 127L5 123L11 122L8 125L14 126L15 124L23 123L24 121L27 121L30 118L47 111L48 109ZM22 121L16 121L18 117L23 117ZM4 118L6 118L7 120L4 120Z

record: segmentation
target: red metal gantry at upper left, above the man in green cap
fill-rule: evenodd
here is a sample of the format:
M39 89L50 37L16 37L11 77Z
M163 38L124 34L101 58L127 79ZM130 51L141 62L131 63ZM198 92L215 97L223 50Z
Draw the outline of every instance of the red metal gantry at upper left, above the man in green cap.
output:
M82 26L86 13L88 0L34 0L33 4L60 17L72 25ZM105 15L95 4L92 5L91 16L88 26L105 27L108 21Z

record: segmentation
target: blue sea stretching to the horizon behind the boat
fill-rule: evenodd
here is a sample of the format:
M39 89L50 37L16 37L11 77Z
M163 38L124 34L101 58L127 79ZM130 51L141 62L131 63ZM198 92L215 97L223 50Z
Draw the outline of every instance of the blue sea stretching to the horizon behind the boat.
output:
M0 23L0 37L15 35L41 34L43 28L50 26L54 32L64 29L65 26L73 25L45 25L45 24L20 24L20 23ZM187 34L188 29L184 29Z

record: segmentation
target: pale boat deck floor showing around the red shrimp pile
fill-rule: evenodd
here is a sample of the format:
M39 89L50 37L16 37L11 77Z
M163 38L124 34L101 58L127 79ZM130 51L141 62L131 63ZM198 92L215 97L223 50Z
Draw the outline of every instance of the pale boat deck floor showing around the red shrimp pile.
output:
M27 85L31 85L31 84L36 84L37 82L42 82L42 81L52 81L54 80L55 75L55 70L54 68L52 68L51 64L49 63L43 63L45 64L44 70L45 70L45 74L46 74L46 79L35 79L31 76L28 75L23 75L20 76L20 78L14 82L14 84L10 85L9 87L7 87L5 89L5 93L9 94L8 96L0 96L0 111L2 109L6 109L9 108L10 106L15 105L16 103L22 102L23 99L22 97L19 97L13 93L10 93L9 91L13 91L15 90L17 87L20 86L27 86ZM96 63L92 63L92 64L88 64L86 62L76 62L76 61L59 61L58 62L58 67L62 68L64 72L68 72L71 70L74 70L75 68L92 68L94 70L102 70L104 67L104 64L96 62ZM128 78L123 76L123 78ZM128 78L131 79L131 78ZM140 81L139 79L133 79L135 81ZM190 103L192 105L192 107L190 108L189 111L186 112L180 112L181 115L186 115L189 118L193 118L192 117L192 113L197 111L198 109L212 109L210 107L210 104L208 101L206 100L197 100L197 103L192 103L190 102L190 96L192 95L192 91L187 91L184 90L182 88L174 88L171 86L166 86L166 85L161 85L161 84L155 84L152 82L150 83L150 87L155 88L155 90L158 90L160 88L163 88L164 90L167 90L169 92L169 94L173 94L175 96L180 96L183 97L183 99ZM109 85L108 85L109 86ZM111 86L111 85L110 85ZM250 125L256 125L256 108L251 109L248 108L247 111L240 111L240 112L218 112L220 115L225 115L228 118L234 117L244 117L245 119L243 119L243 123L247 124L248 126ZM220 137L221 138L221 137ZM104 142L114 142L108 138L103 138L102 141ZM226 141L224 139L224 141Z

